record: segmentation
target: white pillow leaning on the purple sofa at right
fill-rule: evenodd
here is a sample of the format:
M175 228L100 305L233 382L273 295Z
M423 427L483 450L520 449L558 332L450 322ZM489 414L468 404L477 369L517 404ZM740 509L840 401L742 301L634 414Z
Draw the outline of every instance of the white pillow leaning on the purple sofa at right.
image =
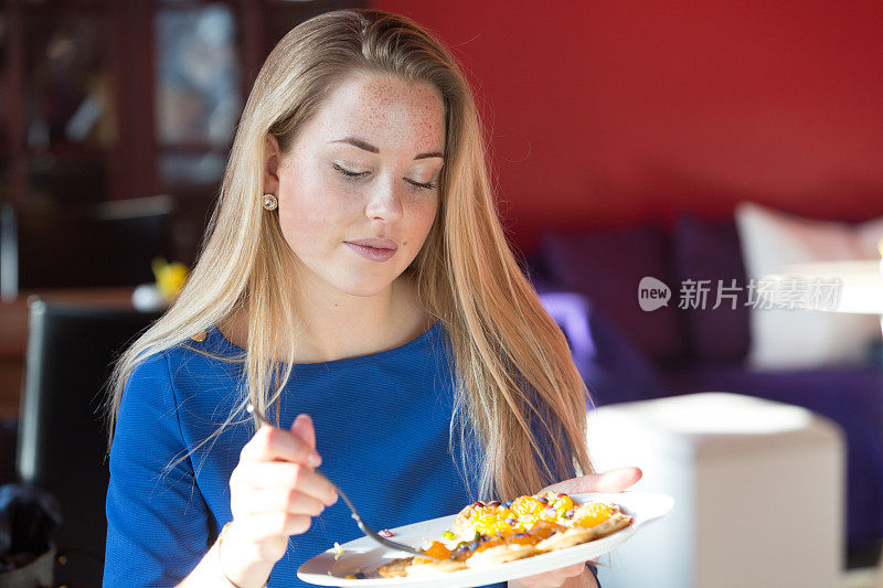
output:
M812 221L744 202L735 209L748 279L783 266L879 259L883 217L858 225ZM859 363L881 338L880 318L819 310L753 308L748 364L758 370L808 368Z

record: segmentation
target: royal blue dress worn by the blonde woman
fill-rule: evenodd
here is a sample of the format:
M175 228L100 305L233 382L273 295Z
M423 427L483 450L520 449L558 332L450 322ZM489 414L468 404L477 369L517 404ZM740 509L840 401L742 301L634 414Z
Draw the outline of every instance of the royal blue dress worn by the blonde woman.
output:
M233 518L230 475L251 438L249 424L230 426L163 471L224 421L242 385L241 363L200 352L242 354L211 329L204 341L140 364L126 386L110 451L105 586L175 585ZM448 353L447 332L436 323L389 351L296 365L283 394L281 425L300 413L312 417L322 471L375 528L451 514L472 500L458 470L459 450L448 447ZM309 586L297 578L304 562L360 536L338 501L289 539L269 586Z

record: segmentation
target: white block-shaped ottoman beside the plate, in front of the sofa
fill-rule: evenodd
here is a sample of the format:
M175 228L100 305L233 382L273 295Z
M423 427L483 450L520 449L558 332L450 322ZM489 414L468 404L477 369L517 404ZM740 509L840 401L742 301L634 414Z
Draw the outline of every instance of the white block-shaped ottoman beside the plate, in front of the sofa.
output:
M844 549L840 428L790 405L703 393L589 413L598 471L643 470L664 518L600 558L604 588L831 588Z

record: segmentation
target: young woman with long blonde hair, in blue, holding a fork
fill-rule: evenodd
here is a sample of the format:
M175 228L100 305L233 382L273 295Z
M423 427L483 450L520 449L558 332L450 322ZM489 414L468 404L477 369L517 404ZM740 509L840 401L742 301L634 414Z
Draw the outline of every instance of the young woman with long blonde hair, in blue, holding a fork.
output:
M200 260L114 382L107 586L302 585L360 535L320 464L382 527L640 477L592 473L586 388L503 238L462 73L379 11L274 49Z

